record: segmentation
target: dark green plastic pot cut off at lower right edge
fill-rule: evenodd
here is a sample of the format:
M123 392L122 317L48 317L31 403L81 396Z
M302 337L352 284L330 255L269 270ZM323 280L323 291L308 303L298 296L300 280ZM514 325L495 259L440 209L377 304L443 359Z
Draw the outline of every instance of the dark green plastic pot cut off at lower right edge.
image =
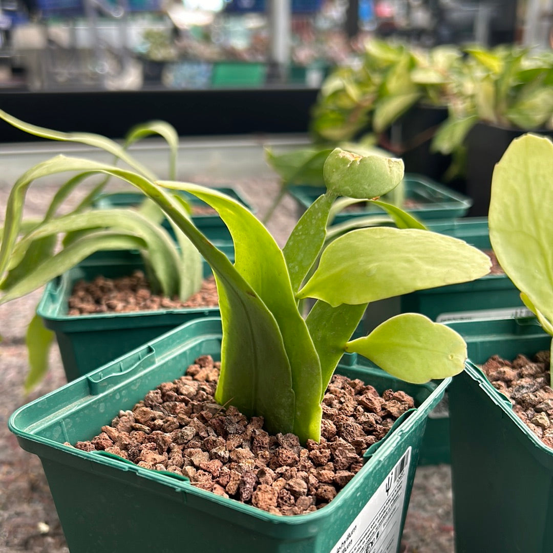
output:
M457 553L553 551L553 450L513 413L474 363L549 349L535 319L448 324L471 361L448 388Z

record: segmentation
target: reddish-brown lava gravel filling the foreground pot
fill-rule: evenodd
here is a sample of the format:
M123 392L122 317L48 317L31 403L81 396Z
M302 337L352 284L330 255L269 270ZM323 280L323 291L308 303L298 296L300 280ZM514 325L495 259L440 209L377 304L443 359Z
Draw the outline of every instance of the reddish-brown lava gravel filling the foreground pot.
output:
M359 379L334 375L323 399L321 442L302 447L294 434L268 434L262 417L247 419L234 406L216 404L219 367L199 357L183 377L148 392L75 447L183 474L193 486L269 513L296 515L328 504L363 466L366 449L414 406L404 392L380 396Z

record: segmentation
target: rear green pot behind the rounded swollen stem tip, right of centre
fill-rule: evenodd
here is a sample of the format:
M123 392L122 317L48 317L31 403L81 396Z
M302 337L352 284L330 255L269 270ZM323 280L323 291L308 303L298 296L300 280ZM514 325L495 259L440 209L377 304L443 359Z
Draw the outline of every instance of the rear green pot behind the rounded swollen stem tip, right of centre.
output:
M407 205L403 209L422 221L464 217L472 203L468 197L422 175L406 174L404 185ZM324 190L322 186L288 186L288 192L298 204L299 213L306 211L321 194L324 194ZM333 224L368 215L381 216L383 213L383 210L375 206L355 211L341 211L334 218Z

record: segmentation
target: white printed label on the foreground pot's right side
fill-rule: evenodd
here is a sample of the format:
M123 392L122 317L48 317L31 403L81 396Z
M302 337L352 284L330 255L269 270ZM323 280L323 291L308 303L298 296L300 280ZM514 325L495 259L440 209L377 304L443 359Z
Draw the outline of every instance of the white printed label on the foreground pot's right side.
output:
M397 551L410 462L408 447L330 553Z

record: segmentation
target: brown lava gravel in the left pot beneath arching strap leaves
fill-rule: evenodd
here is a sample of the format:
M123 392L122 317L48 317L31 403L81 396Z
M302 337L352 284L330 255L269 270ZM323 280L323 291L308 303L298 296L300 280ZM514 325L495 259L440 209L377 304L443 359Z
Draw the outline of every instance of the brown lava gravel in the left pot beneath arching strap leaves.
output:
M136 270L131 276L116 279L97 276L91 282L77 281L69 298L69 315L214 307L218 302L213 276L206 278L188 300L180 301L153 294L144 273Z

